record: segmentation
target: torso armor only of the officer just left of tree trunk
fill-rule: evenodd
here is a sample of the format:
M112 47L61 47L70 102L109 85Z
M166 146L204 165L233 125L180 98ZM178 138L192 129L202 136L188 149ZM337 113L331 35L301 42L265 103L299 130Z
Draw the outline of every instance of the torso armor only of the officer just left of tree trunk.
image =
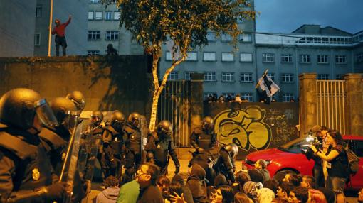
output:
M125 146L128 150L132 151L134 154L141 153L141 132L137 128L132 128L131 125L127 124L124 128L125 136L127 140L125 141Z

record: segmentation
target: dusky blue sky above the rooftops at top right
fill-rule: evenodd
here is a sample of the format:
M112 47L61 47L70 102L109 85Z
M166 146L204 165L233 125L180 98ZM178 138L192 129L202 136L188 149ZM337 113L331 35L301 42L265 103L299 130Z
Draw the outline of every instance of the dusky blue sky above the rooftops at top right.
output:
M256 31L291 33L302 24L363 30L363 0L255 0Z

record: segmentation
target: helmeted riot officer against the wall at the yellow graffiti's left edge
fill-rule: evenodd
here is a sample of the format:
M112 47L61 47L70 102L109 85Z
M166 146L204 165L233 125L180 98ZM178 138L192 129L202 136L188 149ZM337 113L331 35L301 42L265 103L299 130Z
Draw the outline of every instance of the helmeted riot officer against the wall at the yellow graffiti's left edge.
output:
M202 153L204 150L209 150L216 146L216 133L214 133L213 127L213 119L211 116L206 116L201 126L194 128L190 140L197 153Z

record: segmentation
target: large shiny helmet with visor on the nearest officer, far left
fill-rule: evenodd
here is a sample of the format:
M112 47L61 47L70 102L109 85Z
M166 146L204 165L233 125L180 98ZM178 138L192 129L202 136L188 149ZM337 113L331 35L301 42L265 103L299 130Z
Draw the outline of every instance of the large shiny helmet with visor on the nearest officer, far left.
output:
M0 99L0 121L6 125L27 130L36 115L44 126L58 126L46 99L32 89L12 89Z

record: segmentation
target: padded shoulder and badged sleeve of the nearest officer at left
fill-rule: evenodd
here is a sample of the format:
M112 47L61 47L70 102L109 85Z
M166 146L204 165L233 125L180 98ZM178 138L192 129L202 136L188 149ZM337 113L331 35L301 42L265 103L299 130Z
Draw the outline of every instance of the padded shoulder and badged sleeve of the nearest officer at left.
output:
M27 139L30 141L26 141ZM37 136L28 135L28 138L24 138L19 132L0 129L1 148L9 150L20 160L14 160L14 192L51 185L53 169L43 148L44 144Z

